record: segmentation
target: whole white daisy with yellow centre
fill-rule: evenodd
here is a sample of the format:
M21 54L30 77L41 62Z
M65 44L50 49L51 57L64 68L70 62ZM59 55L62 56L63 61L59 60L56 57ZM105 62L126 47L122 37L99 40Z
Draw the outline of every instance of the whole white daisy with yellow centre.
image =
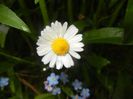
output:
M73 56L80 59L77 52L82 52L84 44L81 42L82 34L77 34L78 29L74 25L67 28L68 23L61 24L56 21L46 26L41 31L41 36L37 41L37 53L43 56L42 62L49 63L50 68L61 69L63 65L70 68L74 65Z

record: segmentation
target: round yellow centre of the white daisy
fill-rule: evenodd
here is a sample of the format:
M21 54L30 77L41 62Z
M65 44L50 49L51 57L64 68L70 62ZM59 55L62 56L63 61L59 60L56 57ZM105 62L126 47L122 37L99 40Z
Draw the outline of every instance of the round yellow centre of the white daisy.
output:
M64 38L55 39L51 46L57 55L65 55L69 51L69 44Z

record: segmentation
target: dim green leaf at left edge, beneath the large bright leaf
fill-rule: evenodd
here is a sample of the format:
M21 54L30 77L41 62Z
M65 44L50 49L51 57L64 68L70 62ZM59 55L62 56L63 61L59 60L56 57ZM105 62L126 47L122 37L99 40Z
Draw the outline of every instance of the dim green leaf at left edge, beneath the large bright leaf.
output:
M6 35L8 33L9 27L5 25L0 25L0 47L4 48Z

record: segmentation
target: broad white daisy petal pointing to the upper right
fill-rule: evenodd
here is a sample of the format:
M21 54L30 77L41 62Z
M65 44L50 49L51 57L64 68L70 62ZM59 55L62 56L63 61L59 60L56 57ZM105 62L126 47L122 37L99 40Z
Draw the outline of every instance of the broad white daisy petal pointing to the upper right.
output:
M74 26L74 25L71 25L65 35L64 35L64 38L66 38L67 40L71 39L73 36L75 36L76 34L78 33L78 29Z

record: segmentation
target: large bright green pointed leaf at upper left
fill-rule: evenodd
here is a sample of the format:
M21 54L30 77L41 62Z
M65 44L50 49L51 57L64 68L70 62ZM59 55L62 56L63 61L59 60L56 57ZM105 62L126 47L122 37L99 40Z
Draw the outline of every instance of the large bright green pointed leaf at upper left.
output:
M8 7L0 4L0 23L30 33L28 26Z

